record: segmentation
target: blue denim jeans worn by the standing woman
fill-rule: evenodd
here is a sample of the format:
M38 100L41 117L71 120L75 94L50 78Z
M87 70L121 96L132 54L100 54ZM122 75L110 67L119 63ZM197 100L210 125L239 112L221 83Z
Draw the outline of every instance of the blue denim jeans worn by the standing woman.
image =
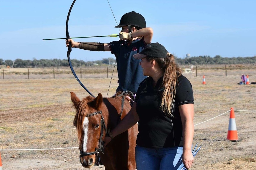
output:
M183 147L144 148L136 146L135 159L137 170L180 170Z

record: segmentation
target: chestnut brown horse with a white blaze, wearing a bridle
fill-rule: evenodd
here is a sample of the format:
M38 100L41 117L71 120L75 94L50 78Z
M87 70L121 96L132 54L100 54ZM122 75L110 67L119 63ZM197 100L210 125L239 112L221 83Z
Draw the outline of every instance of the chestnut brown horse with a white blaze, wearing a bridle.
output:
M113 138L103 149L103 140L107 129L116 127L121 119L130 111L127 98L96 98L87 96L82 101L71 92L71 100L76 109L73 125L77 128L80 149L80 162L85 168L96 163L97 156L105 166L105 170L135 170L135 146L138 125ZM123 106L123 107L122 107ZM96 161L96 162L95 162Z

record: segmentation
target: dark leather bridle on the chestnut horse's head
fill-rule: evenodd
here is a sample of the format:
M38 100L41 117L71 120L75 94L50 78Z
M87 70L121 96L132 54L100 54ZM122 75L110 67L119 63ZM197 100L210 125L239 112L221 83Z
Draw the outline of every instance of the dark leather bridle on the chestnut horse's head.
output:
M103 130L105 130L106 135L108 135L108 131L107 131L107 128L106 128L106 125L105 125L105 120L104 120L104 117L102 115L102 111L97 111L97 112L88 114L86 117L94 116L94 115L97 115L97 114L101 115L101 119L100 119L101 129L100 129L100 137L99 137L98 148L96 148L94 152L83 152L83 151L80 150L80 157L94 155L94 154L96 154L96 157L97 157L99 155L100 151L103 153L103 151L102 151L103 150L103 144L104 144L103 141L102 141Z

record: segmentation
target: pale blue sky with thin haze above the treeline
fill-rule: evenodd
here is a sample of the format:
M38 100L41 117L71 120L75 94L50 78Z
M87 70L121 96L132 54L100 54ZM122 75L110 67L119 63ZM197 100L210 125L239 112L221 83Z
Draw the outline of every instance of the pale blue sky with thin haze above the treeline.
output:
M152 42L159 42L179 58L209 55L245 57L256 55L256 1L254 0L109 0L119 24L123 14L142 14L152 27ZM0 59L66 59L67 13L72 0L1 0L2 39ZM107 0L77 0L69 18L71 37L118 34ZM109 43L118 37L74 39ZM72 48L71 59L84 61L115 58L109 51Z

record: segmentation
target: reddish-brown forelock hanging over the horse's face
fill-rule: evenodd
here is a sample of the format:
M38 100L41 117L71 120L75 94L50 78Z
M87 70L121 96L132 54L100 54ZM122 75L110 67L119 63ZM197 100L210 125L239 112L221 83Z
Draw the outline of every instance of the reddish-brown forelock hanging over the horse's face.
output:
M93 101L93 99L94 98L91 96L87 96L86 98L83 98L76 108L77 112L73 120L73 128L74 126L77 128L78 141L80 145L83 142L83 121L84 121L84 118L90 113L90 106L88 103Z

